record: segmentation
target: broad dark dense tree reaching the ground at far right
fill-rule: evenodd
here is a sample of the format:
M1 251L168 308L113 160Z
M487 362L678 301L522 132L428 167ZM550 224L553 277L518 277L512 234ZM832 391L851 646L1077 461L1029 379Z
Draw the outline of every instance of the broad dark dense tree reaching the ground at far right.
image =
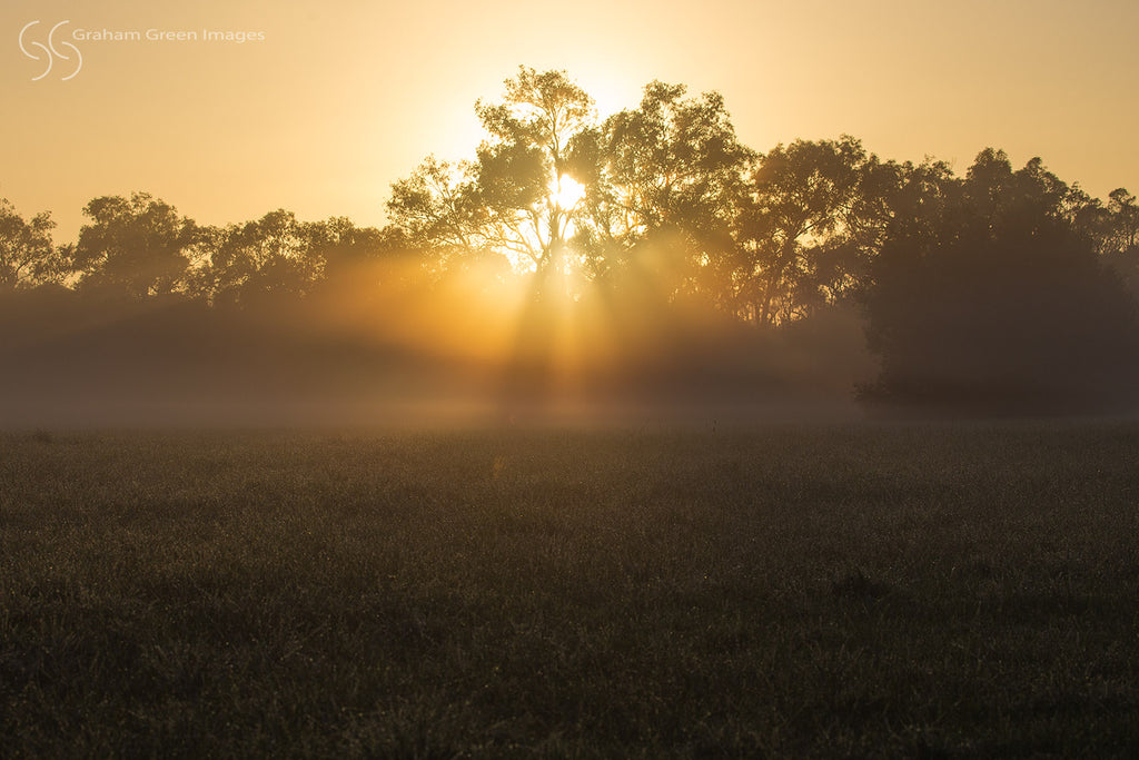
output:
M869 399L969 411L1071 411L1137 379L1136 309L1039 160L982 152L959 193L887 234L866 292L882 357Z

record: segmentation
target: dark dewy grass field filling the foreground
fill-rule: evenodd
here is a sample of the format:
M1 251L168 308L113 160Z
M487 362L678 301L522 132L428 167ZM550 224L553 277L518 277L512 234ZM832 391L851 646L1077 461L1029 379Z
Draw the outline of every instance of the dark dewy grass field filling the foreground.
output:
M1134 755L1137 455L7 434L0 755Z

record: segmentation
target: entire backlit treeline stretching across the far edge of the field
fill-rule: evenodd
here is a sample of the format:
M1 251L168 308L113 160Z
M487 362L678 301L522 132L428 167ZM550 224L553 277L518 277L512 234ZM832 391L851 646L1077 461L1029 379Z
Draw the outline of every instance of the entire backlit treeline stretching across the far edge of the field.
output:
M810 325L857 313L878 361L851 389L868 403L1032 414L1136 400L1139 205L1124 189L1104 203L1039 158L1015 169L991 148L964 175L882 160L847 136L759 153L737 140L719 95L659 82L637 108L598 120L565 73L522 67L501 101L476 111L486 139L475 156L428 157L394 183L383 229L287 211L199 226L136 194L91 201L79 239L56 245L47 213L25 220L3 202L0 285L9 300L66 289L87 303L196 303L233 320L327 311L345 292L354 319L371 308L393 320L392 304L420 299L435 324L464 333L482 307L445 296L477 272L492 300L525 283L518 332L535 345L554 340L559 310L583 304L607 310L611 333L637 322L634 338L657 344L694 319L714 325L732 336L722 351L665 366L697 356L729 375L746 366L736 391L756 363L735 354L786 351L787 335L855 351ZM527 352L542 353L515 351ZM828 370L820 353L805 361ZM760 374L773 363L760 358Z

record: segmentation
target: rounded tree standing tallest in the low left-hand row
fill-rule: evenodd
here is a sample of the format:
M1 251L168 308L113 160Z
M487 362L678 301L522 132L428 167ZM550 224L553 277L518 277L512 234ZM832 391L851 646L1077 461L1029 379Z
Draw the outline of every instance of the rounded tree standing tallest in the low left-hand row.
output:
M197 236L192 220L146 193L95 198L83 213L91 223L69 251L82 288L136 299L185 289Z

